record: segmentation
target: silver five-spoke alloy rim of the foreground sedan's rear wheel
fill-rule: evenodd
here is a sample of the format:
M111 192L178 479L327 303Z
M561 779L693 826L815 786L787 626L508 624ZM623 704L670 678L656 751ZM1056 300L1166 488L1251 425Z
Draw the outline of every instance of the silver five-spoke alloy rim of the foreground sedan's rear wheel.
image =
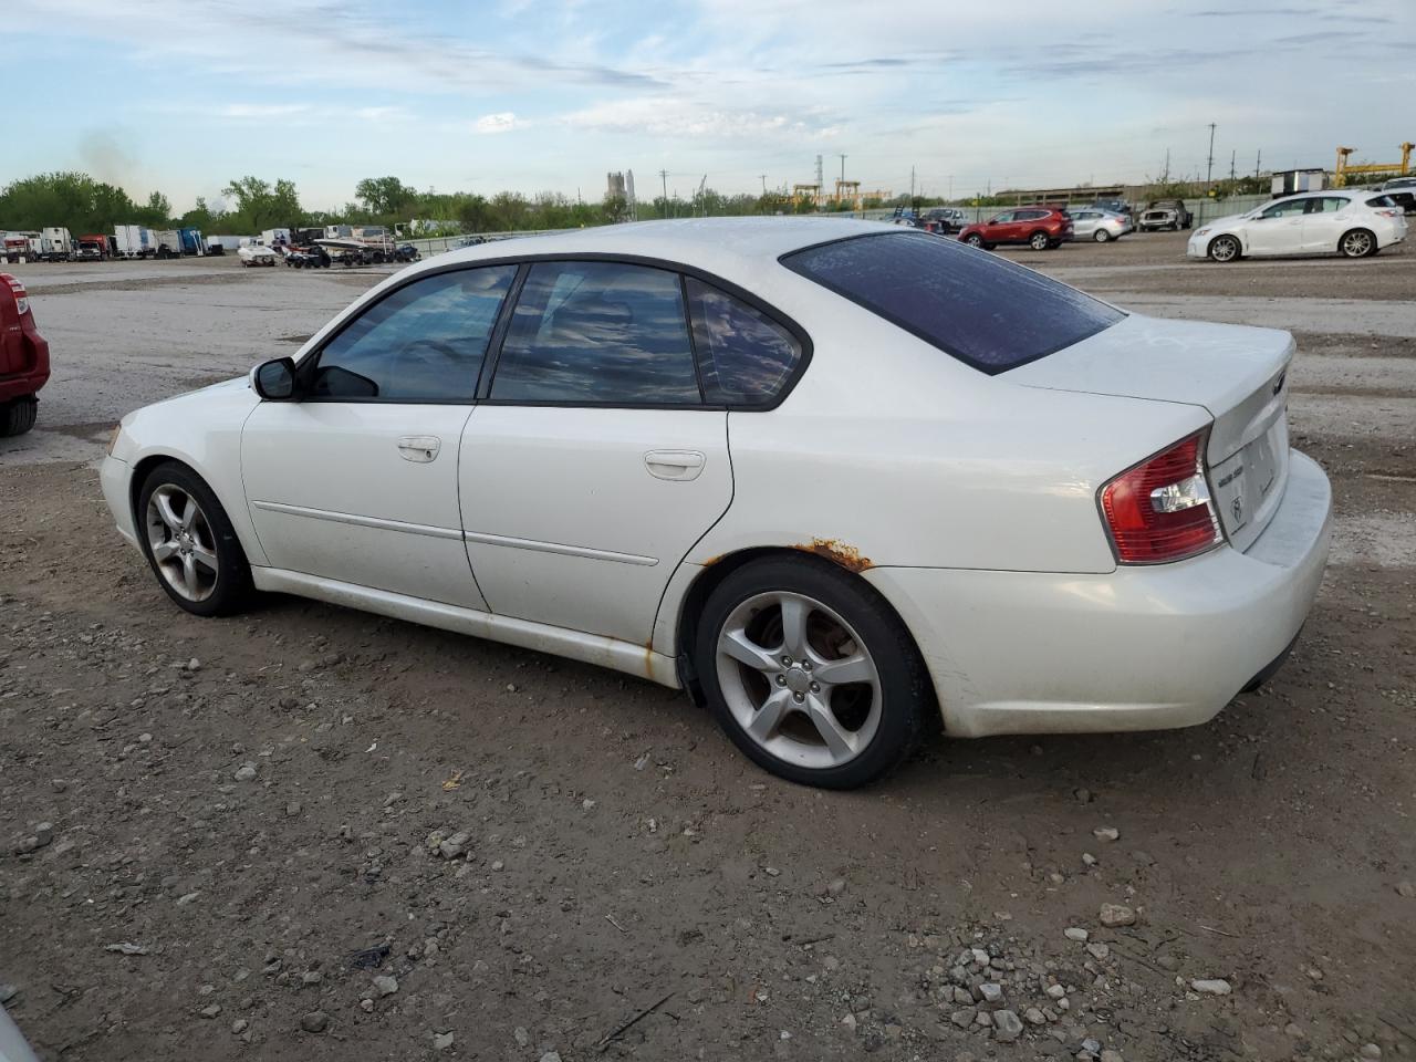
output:
M716 671L742 731L787 763L850 763L879 726L881 678L869 649L814 598L775 590L738 605L718 633Z

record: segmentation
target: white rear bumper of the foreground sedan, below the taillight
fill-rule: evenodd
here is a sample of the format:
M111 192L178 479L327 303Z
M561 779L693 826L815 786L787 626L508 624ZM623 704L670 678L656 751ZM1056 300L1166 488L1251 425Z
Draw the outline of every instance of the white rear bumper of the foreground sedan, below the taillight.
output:
M1283 503L1239 552L1106 575L875 568L959 736L1146 731L1219 712L1297 637L1323 582L1331 489L1291 455Z

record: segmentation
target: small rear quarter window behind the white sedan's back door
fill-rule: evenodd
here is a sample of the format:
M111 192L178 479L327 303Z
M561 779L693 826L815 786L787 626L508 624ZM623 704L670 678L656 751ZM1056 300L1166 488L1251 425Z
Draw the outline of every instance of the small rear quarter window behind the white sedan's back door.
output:
M688 313L704 381L715 405L772 402L801 358L801 346L760 310L690 279Z

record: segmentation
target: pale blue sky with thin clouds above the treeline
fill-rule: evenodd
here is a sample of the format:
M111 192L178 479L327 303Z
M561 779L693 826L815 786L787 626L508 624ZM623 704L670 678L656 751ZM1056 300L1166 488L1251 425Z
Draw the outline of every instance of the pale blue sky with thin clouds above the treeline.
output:
M1068 11L1068 7L1072 10ZM84 170L181 212L235 177L599 200L811 181L966 195L1388 161L1416 0L4 0L0 185ZM844 163L840 156L845 156ZM660 177L660 171L667 177Z

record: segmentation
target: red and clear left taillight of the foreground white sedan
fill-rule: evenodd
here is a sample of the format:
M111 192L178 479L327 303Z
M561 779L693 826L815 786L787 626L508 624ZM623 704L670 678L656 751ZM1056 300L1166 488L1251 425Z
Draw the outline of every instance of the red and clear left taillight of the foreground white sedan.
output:
M1180 561L1222 541L1205 479L1206 432L1123 472L1102 487L1102 514L1121 564Z

